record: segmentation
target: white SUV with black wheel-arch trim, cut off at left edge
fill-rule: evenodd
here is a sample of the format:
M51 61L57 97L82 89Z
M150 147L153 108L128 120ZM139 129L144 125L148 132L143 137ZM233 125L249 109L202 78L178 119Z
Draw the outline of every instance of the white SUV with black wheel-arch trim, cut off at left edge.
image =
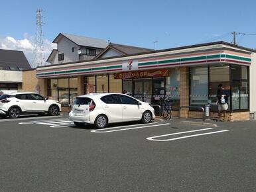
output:
M0 101L0 116L17 118L21 114L58 115L61 105L58 101L46 100L36 93L12 93Z

